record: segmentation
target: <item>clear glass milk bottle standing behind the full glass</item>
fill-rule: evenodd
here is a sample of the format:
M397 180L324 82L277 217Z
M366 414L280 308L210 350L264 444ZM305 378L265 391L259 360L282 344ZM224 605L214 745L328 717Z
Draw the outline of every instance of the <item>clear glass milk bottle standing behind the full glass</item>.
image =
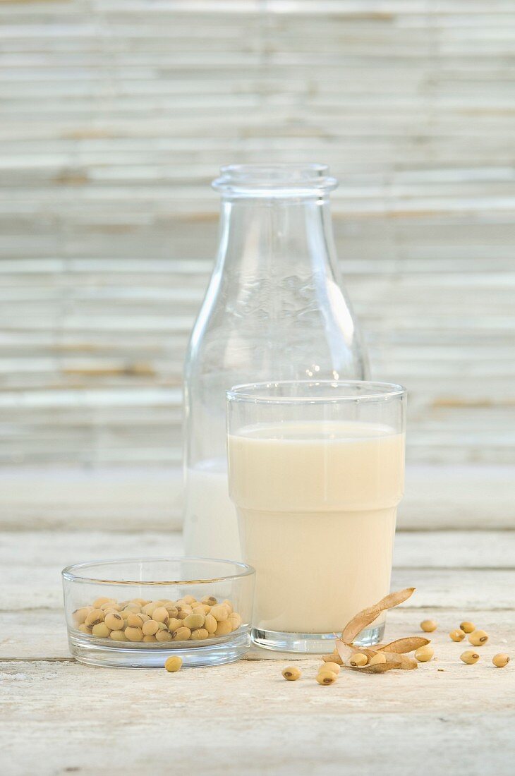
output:
M366 379L341 285L326 165L230 165L219 248L185 359L187 555L240 559L226 469L225 392L238 383Z

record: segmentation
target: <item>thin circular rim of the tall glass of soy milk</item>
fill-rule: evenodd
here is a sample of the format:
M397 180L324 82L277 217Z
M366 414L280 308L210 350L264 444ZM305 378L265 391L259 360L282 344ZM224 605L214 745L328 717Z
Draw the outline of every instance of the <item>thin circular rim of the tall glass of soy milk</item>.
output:
M329 388L344 388L367 386L364 393L326 393L322 396L274 396L267 390L279 386L325 386ZM262 391L263 393L259 393ZM378 401L405 397L406 388L399 383L381 383L375 380L268 380L261 383L242 383L226 391L226 400L249 401L255 404L340 404L346 401Z

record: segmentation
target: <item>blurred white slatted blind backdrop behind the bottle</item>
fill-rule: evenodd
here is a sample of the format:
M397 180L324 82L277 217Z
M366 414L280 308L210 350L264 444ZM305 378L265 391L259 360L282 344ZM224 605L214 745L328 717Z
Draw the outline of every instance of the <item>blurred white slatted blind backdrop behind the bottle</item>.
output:
M178 462L230 161L341 179L410 459L515 459L513 0L2 2L0 43L1 462Z

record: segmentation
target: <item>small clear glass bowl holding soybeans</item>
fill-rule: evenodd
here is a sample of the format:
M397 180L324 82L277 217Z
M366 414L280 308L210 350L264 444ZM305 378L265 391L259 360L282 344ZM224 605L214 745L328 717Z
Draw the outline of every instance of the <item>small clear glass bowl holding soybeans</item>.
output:
M78 563L62 572L71 654L121 668L238 660L251 643L255 572L206 558Z

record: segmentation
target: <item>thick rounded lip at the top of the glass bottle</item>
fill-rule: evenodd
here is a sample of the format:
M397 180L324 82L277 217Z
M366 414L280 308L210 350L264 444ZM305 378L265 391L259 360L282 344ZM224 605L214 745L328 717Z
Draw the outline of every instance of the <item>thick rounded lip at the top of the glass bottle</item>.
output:
M336 189L327 165L227 165L213 189L224 196L323 196Z

